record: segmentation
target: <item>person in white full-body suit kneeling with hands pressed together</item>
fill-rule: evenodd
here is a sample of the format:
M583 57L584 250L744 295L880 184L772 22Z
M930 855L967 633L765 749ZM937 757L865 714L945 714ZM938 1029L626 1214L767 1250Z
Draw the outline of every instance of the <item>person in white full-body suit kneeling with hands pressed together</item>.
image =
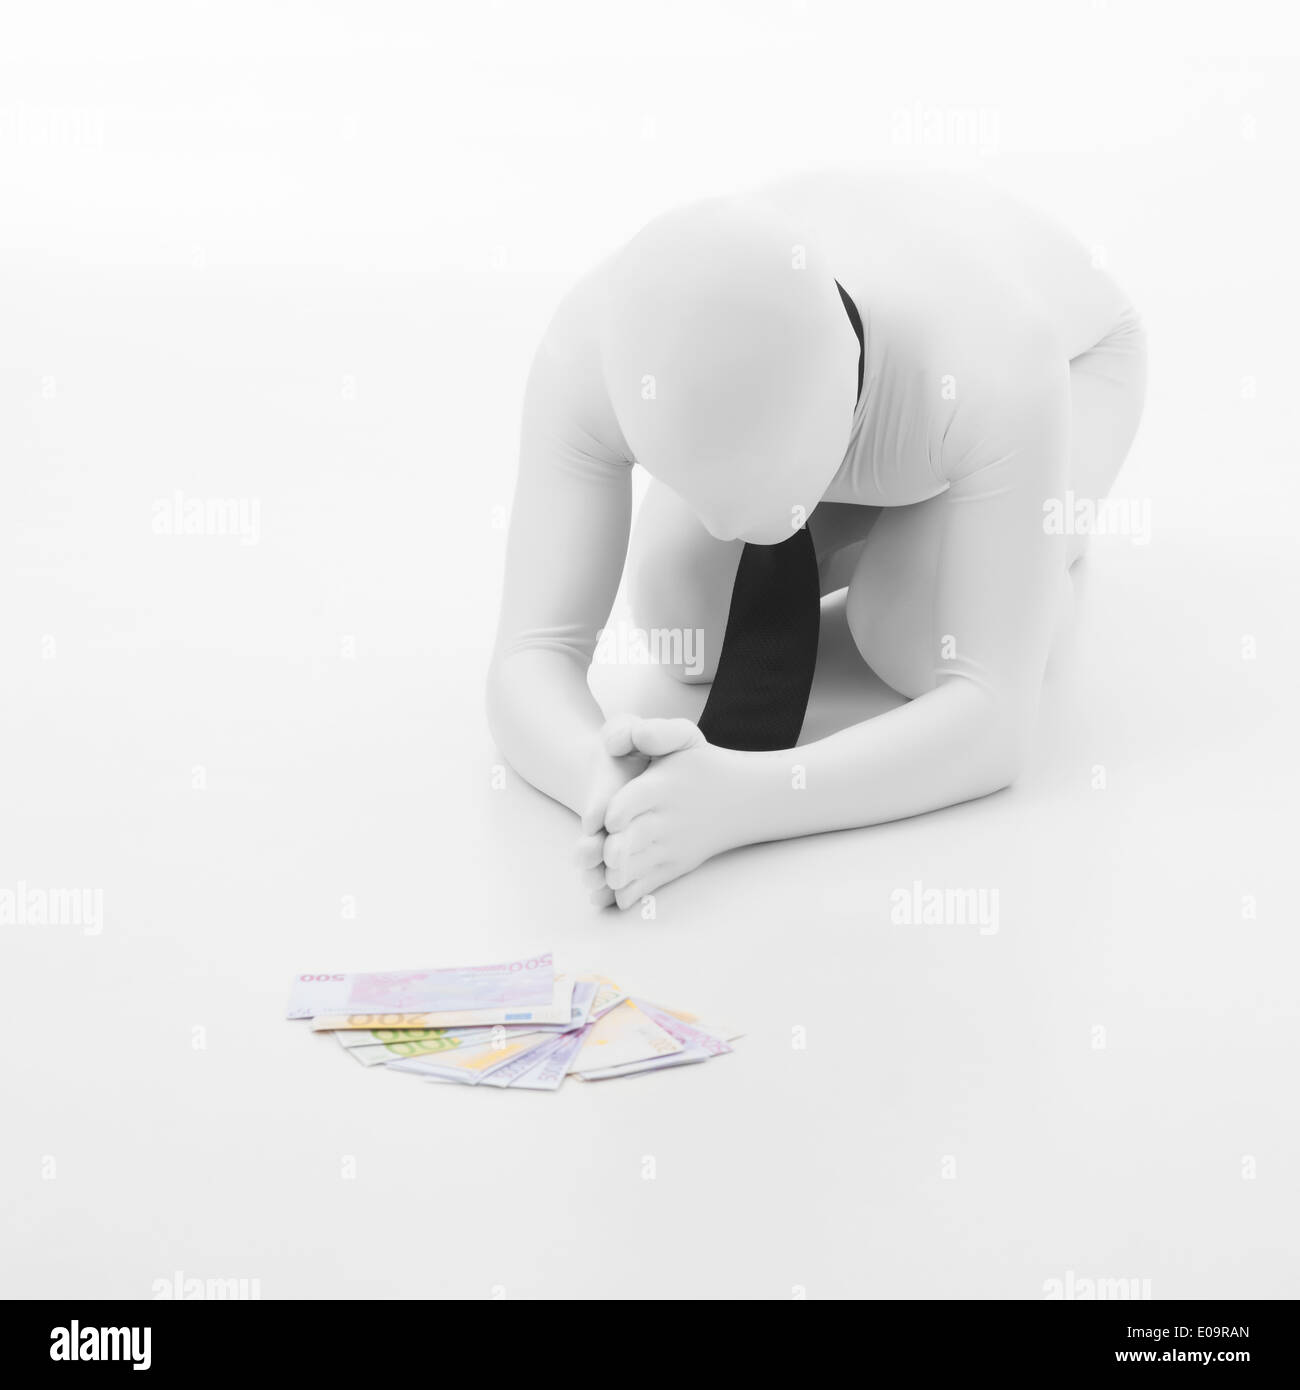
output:
M488 713L581 816L592 899L1007 787L1086 539L1046 505L1107 493L1144 384L1137 314L1086 249L955 175L690 204L585 275L528 377ZM653 481L628 549L634 461ZM606 723L587 670L624 562L637 627L701 632L704 671L674 674L710 680L745 542L805 521L822 592L848 587L863 660L908 703L797 755Z

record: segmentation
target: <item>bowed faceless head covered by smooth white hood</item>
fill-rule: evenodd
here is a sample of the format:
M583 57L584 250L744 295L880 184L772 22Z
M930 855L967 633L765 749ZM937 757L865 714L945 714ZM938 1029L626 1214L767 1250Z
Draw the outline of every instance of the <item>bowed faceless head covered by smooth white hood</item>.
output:
M784 541L848 448L858 338L799 228L741 197L691 203L610 263L602 367L635 460L719 539Z

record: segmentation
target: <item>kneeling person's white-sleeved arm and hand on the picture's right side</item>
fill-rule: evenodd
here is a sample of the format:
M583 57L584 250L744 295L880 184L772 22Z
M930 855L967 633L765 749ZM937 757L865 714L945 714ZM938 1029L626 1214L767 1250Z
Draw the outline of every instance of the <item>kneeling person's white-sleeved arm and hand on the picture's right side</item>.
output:
M1064 575L1043 503L1066 480L1069 374L1025 335L977 409L954 418L936 580L936 685L801 748L715 748L681 720L623 721L610 752L676 749L610 801L606 880L619 906L726 849L937 810L1022 766ZM683 727L685 726L685 727Z

